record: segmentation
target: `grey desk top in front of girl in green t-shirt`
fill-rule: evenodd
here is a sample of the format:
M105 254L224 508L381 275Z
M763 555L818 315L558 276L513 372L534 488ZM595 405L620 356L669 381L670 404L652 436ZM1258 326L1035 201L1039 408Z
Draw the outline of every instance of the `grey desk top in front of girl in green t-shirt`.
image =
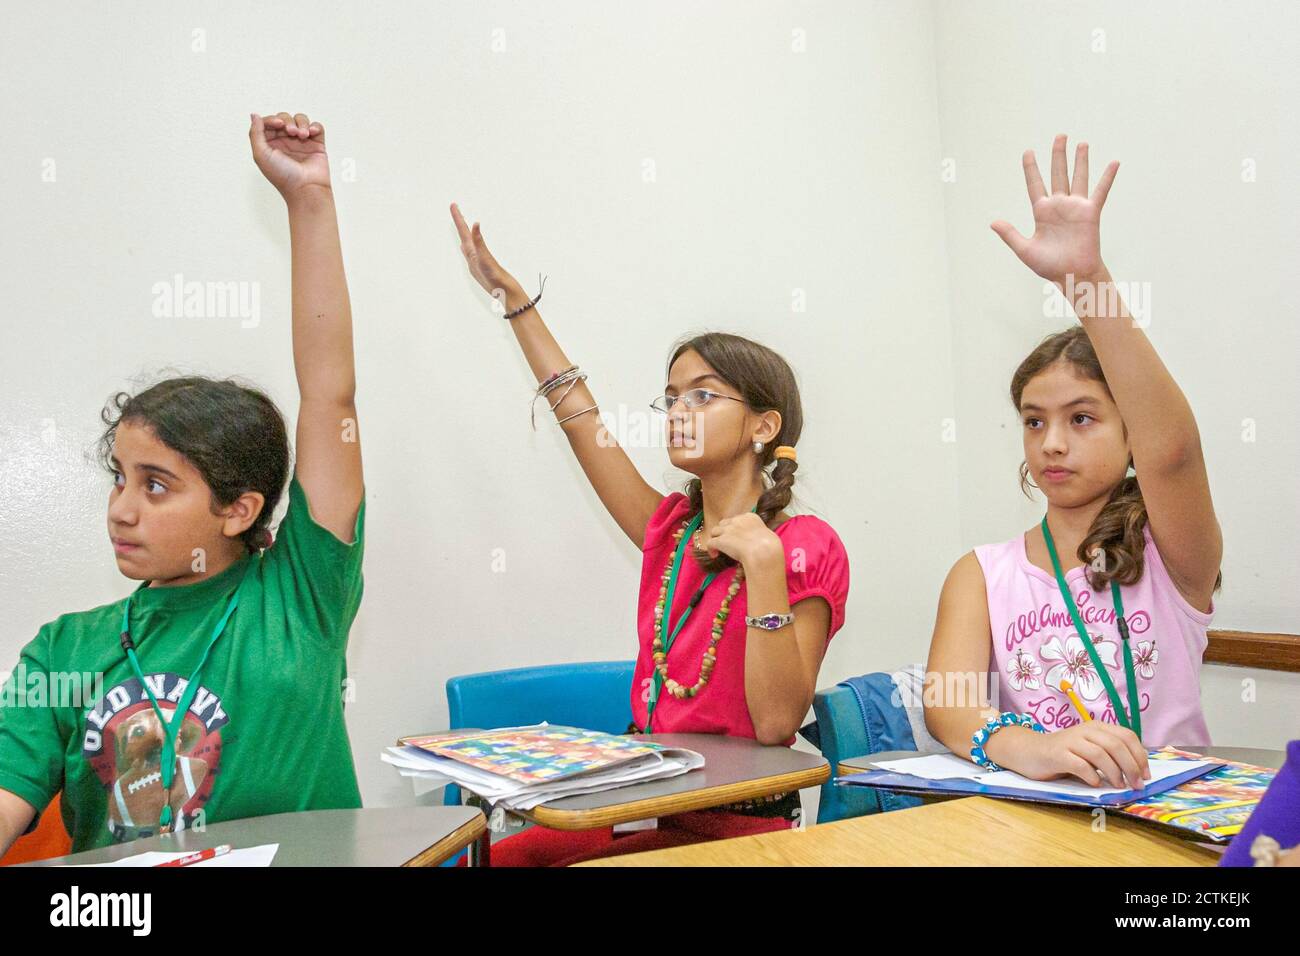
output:
M484 832L473 806L374 806L360 810L303 810L209 823L204 831L88 849L23 866L103 864L151 849L178 852L229 843L239 849L278 843L272 866L437 866Z

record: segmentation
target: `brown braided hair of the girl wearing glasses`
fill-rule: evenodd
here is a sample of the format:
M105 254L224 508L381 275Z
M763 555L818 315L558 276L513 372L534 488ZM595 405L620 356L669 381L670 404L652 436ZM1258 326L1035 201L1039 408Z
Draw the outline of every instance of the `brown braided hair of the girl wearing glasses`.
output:
M763 454L758 458L766 485L758 499L758 516L771 528L776 515L790 503L794 472L798 471L798 464L789 458L775 458L777 446L793 446L803 431L803 406L800 402L800 386L794 381L794 371L785 359L767 346L727 332L706 332L679 342L668 358L670 372L672 363L685 351L693 351L707 362L755 412L775 410L781 414L781 431L763 446ZM774 460L776 466L768 472L767 466ZM690 512L694 516L705 507L699 479L688 481L685 493L690 498ZM706 571L722 571L736 563L725 554L708 558L707 553L697 551L696 559Z

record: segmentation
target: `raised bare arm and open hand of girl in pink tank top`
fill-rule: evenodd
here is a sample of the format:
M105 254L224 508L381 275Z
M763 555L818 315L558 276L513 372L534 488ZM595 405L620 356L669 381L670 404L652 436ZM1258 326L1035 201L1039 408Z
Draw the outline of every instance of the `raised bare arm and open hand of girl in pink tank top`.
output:
M1118 163L1108 165L1088 195L1088 144L1079 143L1070 181L1066 138L1060 135L1052 144L1050 195L1034 152L1024 153L1034 237L1020 235L1004 221L993 222L993 232L1034 272L1071 293L1070 304L1092 341L1128 431L1152 537L1183 597L1208 609L1223 537L1210 501L1196 419L1147 333L1132 321L1101 260L1101 207L1118 169Z

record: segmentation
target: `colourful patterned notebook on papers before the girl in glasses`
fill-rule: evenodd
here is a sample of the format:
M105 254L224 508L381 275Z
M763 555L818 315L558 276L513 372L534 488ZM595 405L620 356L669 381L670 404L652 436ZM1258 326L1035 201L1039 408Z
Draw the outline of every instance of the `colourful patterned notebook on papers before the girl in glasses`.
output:
M559 726L428 734L399 743L519 783L560 780L666 749L640 736Z

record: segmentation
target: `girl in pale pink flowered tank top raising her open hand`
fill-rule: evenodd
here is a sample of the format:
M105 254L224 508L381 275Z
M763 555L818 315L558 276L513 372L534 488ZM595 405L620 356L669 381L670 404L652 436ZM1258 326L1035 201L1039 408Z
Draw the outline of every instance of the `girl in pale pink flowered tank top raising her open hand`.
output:
M993 230L1056 284L1082 325L1045 338L1011 377L1024 462L1046 515L953 567L940 598L926 722L954 753L1034 779L1139 787L1147 749L1210 743L1200 667L1222 536L1196 420L1101 260L1117 163L1088 189L1088 151L1052 191L1026 153L1034 235ZM954 676L988 688L962 698Z

